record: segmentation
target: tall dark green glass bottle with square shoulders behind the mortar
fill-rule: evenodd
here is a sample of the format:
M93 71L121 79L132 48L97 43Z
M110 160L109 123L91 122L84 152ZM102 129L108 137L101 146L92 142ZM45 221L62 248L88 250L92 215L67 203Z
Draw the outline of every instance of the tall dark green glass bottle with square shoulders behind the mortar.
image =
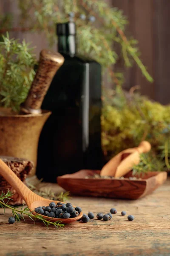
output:
M56 177L80 169L101 169L101 66L76 54L75 23L57 24L59 68L42 109L52 111L42 129L37 177Z

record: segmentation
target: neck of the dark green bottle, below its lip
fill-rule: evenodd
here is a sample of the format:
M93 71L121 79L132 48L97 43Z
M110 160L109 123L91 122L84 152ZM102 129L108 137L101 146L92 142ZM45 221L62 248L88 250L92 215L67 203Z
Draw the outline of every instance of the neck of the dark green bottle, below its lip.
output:
M76 37L75 35L59 35L58 36L58 52L68 55L76 54Z

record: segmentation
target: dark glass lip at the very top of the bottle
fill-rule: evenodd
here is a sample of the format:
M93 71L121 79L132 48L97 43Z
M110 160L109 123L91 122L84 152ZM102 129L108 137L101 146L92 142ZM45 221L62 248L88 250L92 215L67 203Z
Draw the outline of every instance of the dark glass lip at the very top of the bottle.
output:
M74 22L57 23L57 35L76 35L76 24Z

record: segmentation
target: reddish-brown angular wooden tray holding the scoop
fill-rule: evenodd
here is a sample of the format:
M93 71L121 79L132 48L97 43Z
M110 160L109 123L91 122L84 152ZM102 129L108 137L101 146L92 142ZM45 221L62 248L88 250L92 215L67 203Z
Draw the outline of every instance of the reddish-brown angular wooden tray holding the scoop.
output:
M74 195L138 199L153 192L167 179L167 172L149 172L141 176L141 180L130 180L129 177L139 178L132 176L132 172L125 175L124 179L85 178L95 174L100 174L100 171L80 170L57 177L57 182Z

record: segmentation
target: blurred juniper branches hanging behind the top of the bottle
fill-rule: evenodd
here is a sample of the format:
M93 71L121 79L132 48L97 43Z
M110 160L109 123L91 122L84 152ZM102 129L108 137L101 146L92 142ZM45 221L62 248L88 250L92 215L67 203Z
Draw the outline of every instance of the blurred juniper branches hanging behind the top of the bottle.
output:
M144 76L153 81L139 59L138 42L125 36L127 18L122 10L111 8L104 0L18 0L18 6L22 27L45 32L51 44L55 39L55 23L68 21L69 13L74 12L80 54L94 58L104 68L111 68L118 59L116 51L120 47L125 65L130 67L135 61ZM81 20L81 14L87 19ZM96 17L96 22L90 22L90 16Z

